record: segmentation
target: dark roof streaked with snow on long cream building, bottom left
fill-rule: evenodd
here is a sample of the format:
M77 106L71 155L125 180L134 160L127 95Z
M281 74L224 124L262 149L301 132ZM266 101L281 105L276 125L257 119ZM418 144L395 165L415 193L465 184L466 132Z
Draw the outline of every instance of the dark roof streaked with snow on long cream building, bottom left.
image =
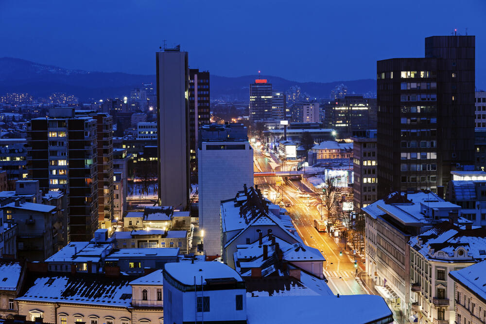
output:
M130 307L132 287L128 279L100 276L57 276L35 280L20 301Z

